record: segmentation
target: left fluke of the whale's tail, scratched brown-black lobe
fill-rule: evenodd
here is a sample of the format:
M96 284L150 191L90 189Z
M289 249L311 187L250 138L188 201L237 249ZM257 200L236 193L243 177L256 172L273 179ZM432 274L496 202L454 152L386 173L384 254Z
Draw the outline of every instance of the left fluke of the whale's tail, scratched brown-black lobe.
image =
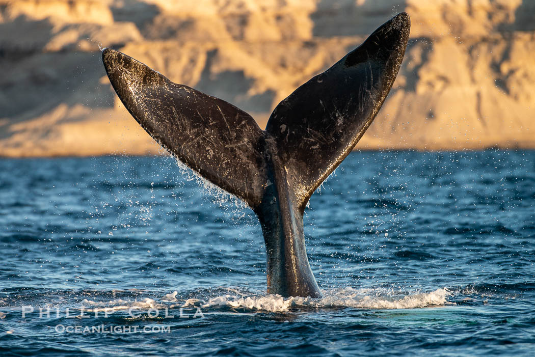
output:
M113 89L147 133L205 179L259 204L266 182L263 133L249 114L121 52L106 48L102 58Z

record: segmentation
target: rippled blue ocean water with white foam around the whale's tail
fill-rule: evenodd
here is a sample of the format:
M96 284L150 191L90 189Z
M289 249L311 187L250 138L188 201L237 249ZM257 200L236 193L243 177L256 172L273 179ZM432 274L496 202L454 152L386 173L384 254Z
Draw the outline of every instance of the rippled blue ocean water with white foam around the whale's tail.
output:
M535 151L354 152L318 191L324 298L285 299L170 157L0 159L0 355L535 354Z

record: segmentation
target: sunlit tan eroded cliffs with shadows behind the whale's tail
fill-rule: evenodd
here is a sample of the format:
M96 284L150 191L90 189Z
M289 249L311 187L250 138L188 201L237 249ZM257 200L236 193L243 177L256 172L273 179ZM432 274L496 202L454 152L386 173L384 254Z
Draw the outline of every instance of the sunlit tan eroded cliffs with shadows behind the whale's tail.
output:
M263 128L280 100L401 11L406 59L357 148L535 147L528 0L0 0L0 155L159 152L111 89L103 46Z

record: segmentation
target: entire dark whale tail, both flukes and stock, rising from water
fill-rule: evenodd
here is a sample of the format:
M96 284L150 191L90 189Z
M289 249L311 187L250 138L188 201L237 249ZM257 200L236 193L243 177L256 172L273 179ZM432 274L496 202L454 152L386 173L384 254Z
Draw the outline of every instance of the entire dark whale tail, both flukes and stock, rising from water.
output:
M176 84L118 51L102 57L137 122L197 174L243 199L261 223L268 292L320 297L304 244L312 193L354 148L398 74L410 20L400 13L277 105L261 130L224 100Z

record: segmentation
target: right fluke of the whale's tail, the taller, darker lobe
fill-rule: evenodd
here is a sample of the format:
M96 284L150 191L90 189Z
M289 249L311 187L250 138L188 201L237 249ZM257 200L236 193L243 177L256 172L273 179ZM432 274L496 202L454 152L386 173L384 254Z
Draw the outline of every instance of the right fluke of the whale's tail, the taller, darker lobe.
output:
M266 131L288 168L301 211L375 119L398 75L409 29L409 15L397 15L271 114Z

